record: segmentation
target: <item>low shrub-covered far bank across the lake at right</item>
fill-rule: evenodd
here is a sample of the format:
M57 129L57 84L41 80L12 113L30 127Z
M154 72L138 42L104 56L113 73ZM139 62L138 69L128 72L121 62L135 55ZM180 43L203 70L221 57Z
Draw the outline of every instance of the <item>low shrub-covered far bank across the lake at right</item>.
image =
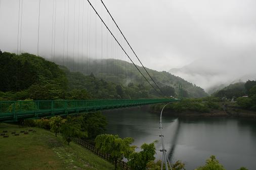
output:
M231 103L233 104L233 103ZM234 117L256 119L256 111L234 106L230 103L216 101L200 101L199 99L184 99L180 102L166 105L164 112L173 117ZM150 106L150 112L159 113L164 104Z

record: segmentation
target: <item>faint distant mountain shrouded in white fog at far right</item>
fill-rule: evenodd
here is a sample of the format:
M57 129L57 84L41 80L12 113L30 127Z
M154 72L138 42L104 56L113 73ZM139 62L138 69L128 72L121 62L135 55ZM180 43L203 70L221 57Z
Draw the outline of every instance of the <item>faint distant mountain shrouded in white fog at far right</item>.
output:
M256 79L254 60L254 56L245 56L239 60L232 56L201 58L168 72L202 87L211 94L230 84Z

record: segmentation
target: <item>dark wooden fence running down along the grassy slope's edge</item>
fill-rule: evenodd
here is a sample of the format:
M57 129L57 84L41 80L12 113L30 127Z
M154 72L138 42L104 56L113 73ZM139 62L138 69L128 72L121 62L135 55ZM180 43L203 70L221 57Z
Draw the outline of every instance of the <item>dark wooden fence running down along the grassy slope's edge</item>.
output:
M91 145L89 144L88 142L82 140L82 139L73 139L74 142L78 143L79 145L87 148L88 150L91 150L93 153L97 154L98 156L100 156L101 158L111 162L111 163L114 163L113 160L111 159L111 156L110 154L105 154L105 153L102 153L100 152L94 145ZM119 169L123 169L123 170L131 170L130 166L127 165L126 162L120 160L120 159L117 159L117 165L119 166Z

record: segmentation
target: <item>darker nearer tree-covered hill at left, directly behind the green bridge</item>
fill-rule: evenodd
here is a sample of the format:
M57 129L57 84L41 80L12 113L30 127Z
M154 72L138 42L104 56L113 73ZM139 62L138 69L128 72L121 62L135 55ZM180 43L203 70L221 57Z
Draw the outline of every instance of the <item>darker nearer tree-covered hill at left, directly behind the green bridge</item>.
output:
M162 87L166 96L172 87ZM70 72L66 67L29 53L0 54L1 100L129 99L157 98L160 95L146 83L125 84L107 81L94 74Z

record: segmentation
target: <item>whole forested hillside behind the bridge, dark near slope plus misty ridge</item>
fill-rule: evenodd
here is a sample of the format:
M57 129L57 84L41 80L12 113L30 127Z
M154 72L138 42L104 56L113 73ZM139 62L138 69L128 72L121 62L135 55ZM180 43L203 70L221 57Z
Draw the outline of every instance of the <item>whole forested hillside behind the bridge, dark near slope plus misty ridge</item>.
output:
M79 65L75 72L39 56L4 52L0 54L0 99L138 99L162 97L132 65L123 61ZM71 67L68 65L68 67ZM107 68L109 67L109 68ZM111 70L112 68L112 70ZM129 69L130 68L130 69ZM140 68L142 70L142 68ZM142 71L143 72L143 71ZM206 93L200 87L171 75L148 69L165 96L176 96L179 83L185 97ZM153 84L153 83L152 83Z

